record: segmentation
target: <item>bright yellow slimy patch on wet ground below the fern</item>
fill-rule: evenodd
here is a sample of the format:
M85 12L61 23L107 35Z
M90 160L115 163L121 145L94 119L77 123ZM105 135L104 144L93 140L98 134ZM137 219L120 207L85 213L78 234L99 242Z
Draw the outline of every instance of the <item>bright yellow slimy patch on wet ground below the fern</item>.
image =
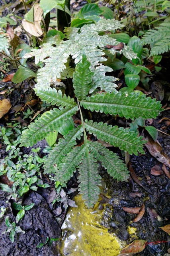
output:
M104 210L86 209L80 195L75 202L78 208L70 208L62 225L63 238L61 248L62 256L117 256L120 252L121 242L107 228L100 225Z

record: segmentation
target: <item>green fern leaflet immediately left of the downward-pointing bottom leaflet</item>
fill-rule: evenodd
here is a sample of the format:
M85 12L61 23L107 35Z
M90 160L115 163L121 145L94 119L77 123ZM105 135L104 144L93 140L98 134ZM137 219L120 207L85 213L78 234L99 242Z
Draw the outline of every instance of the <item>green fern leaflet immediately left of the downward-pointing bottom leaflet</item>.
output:
M63 158L63 162L55 172L55 180L59 181L62 186L66 185L70 177L73 176L73 172L76 172L76 168L78 168L78 165L82 161L84 152L85 145L83 144L81 147L73 148L65 158Z

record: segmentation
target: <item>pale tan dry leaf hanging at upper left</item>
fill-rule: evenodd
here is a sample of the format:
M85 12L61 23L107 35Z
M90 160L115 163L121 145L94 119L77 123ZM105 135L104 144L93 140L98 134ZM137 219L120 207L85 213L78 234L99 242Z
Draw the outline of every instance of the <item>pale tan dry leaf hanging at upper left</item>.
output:
M34 23L29 22L27 20L22 20L23 28L33 36L41 36L43 31L41 29L41 18L42 18L43 10L39 6L39 4L34 5Z

